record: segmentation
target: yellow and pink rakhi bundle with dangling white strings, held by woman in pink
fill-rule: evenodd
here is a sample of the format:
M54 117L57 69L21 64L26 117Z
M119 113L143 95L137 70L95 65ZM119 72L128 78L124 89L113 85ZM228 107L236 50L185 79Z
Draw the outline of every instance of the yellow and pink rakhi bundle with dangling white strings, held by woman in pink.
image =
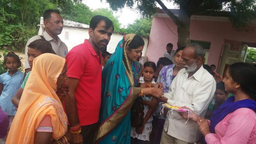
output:
M190 110L185 109L185 108L182 108L182 107L180 107L180 106L172 105L172 104L169 104L169 103L164 103L164 104L161 106L161 108L160 108L160 111L161 111L160 114L163 113L163 109L164 109L165 107L166 107L167 109L169 109L169 111L168 111L167 114L166 114L166 116L168 117L169 121L170 121L170 113L173 114L173 110L174 110L174 111L177 111L177 112L186 112L186 113L188 113L188 120L189 120L189 115L191 115L191 111L190 111ZM187 124L188 120L185 122L185 124Z

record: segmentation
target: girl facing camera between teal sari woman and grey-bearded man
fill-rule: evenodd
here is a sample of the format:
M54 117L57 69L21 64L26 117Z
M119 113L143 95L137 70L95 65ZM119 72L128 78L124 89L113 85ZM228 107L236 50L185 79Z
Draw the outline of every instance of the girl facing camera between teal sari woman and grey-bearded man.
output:
M156 71L156 65L154 62L147 61L144 63L143 76L140 77L140 83L146 83L145 87L150 87L151 83L155 83L154 75ZM149 135L152 131L152 113L153 109L150 106L145 105L145 101L154 101L151 95L143 95L144 100L144 121L143 126L139 128L132 127L131 129L131 144L149 144ZM156 99L155 99L156 100Z

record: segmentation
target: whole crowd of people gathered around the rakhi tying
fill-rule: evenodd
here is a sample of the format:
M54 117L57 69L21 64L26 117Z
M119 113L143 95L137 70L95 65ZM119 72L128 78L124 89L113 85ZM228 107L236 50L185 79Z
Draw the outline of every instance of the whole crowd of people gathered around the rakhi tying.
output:
M124 35L113 54L101 52L114 26L100 15L90 21L89 39L68 52L58 37L60 12L46 10L44 25L27 41L25 74L15 53L4 57L0 144L255 144L253 65L236 62L223 78L215 65L203 65L197 43L177 50L168 43L157 64L144 62L136 34ZM135 126L139 99L143 121Z

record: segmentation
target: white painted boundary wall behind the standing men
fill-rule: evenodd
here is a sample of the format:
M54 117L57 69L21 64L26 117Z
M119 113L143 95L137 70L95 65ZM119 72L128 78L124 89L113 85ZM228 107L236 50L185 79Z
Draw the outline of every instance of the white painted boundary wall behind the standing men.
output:
M38 34L44 33L45 28L43 23L43 17L41 17L39 26L40 29L38 31ZM63 41L68 46L68 51L71 50L74 46L83 43L84 39L89 39L88 29L70 28L69 26L89 28L89 25L87 24L72 22L71 20L64 20L64 27L62 33L58 36L61 39L61 41ZM116 50L118 42L123 37L124 35L113 33L107 46L107 51L109 53L113 53ZM147 51L148 39L143 38L143 40L145 42L145 46L143 48L142 56L145 56L145 53Z

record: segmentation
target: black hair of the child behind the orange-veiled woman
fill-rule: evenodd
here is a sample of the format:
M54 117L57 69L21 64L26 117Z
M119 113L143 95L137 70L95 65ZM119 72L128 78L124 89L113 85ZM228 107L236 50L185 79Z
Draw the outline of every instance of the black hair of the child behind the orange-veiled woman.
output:
M35 41L31 42L27 47L39 50L41 53L52 53L56 54L50 42L46 41L45 39L36 39Z

